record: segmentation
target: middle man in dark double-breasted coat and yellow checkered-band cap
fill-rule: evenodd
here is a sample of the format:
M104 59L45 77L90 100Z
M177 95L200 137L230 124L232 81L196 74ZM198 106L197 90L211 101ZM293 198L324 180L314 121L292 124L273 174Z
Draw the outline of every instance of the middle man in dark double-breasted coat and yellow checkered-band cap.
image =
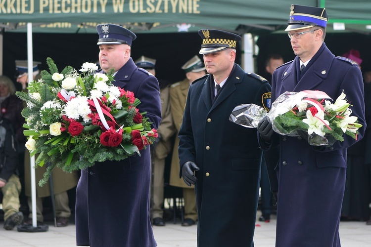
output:
M195 185L199 247L252 247L259 198L256 129L229 121L232 110L254 103L269 108L271 86L234 63L241 37L198 31L208 75L189 87L179 130L180 176Z

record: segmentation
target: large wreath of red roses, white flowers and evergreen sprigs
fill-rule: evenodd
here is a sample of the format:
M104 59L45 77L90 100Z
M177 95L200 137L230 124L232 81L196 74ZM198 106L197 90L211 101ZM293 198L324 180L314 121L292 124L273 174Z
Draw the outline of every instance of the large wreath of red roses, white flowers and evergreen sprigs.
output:
M140 156L158 137L134 93L112 84L113 70L93 74L97 66L84 63L80 74L71 66L59 73L51 58L46 63L49 72L30 82L28 92L16 92L27 103L22 111L26 148L37 155L36 167L51 164L41 186L55 166L72 172Z

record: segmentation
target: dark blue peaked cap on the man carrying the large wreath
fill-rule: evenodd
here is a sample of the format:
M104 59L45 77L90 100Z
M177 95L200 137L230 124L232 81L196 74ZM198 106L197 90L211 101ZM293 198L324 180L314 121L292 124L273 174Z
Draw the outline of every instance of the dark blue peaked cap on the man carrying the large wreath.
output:
M128 44L132 45L137 36L132 31L115 24L99 24L96 26L99 39L96 44Z

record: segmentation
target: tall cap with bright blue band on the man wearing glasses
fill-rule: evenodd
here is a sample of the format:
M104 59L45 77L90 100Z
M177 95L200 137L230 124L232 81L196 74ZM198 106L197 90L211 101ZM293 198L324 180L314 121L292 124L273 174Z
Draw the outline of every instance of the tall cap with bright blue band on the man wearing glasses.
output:
M290 19L285 31L294 31L311 27L326 28L328 21L325 8L291 4Z

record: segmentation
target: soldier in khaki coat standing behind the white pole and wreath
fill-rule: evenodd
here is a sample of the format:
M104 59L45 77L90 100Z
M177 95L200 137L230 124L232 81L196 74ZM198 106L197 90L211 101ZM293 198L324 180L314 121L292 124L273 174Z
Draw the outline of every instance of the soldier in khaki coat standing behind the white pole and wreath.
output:
M33 62L33 79L39 80L39 67L40 62ZM15 61L16 78L17 82L22 84L22 90L27 91L28 83L28 70L27 60L16 60ZM23 145L24 146L24 145ZM38 181L44 177L46 171L46 165L43 167L37 167L35 170L36 175L36 216L37 224L41 225L44 222L43 215L43 198L53 196L50 195L50 184L49 181L40 187ZM28 207L30 210L29 216L24 220L25 225L32 224L32 201L31 201L31 158L30 153L26 152L24 156L24 174L25 174L25 194L27 196ZM67 226L69 224L69 217L71 216L71 208L69 206L69 198L67 191L76 187L78 181L77 173L64 172L62 169L55 167L52 172L53 190L55 198L55 212L56 212L56 225L57 227Z

